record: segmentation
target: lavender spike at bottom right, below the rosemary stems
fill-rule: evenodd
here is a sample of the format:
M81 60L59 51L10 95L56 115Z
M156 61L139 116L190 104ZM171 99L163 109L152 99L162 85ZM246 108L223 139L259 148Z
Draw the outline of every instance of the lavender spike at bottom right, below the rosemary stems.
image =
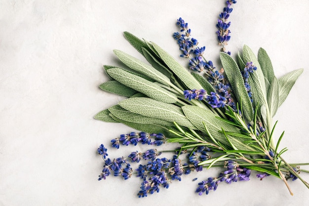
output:
M231 184L232 182L239 181L248 181L250 180L249 176L251 170L245 167L241 167L237 162L229 160L225 162L225 167L227 170L220 173L219 177L209 177L207 180L204 180L198 183L196 193L202 195L205 193L208 195L210 190L216 191L220 182L226 182Z

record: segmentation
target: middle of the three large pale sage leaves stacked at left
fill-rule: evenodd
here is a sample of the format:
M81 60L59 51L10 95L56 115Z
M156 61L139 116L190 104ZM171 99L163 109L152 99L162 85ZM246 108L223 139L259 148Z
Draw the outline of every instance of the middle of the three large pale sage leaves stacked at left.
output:
M141 77L130 74L119 68L111 68L107 73L116 81L134 89L147 96L166 103L175 103L177 97L175 94L156 85L154 82L147 81Z

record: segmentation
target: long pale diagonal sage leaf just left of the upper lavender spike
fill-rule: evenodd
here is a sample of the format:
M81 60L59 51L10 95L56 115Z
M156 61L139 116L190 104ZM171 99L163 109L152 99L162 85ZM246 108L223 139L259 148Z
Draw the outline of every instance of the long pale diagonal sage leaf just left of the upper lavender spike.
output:
M160 58L168 66L168 68L182 81L189 89L201 89L202 86L197 82L190 72L179 64L171 55L152 42L154 49L159 54Z

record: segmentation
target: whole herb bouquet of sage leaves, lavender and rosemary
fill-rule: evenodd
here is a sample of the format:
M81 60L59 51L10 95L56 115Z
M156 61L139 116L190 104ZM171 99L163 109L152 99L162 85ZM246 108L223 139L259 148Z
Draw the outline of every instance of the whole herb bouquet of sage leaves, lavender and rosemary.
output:
M289 179L299 179L309 188L300 176L301 171L309 172L300 165L309 164L284 160L287 148L279 150L284 132L273 137L276 122L272 121L303 69L276 78L267 52L261 48L256 57L246 45L234 60L226 45L231 38L228 18L236 1L226 3L216 25L222 69L203 57L205 46L197 46L182 18L177 20L180 32L173 37L181 57L189 60L189 70L154 42L124 32L149 64L114 50L127 68L104 66L111 80L100 88L128 98L99 112L95 119L141 131L120 135L111 141L112 147L148 144L155 148L112 160L101 144L98 153L104 166L99 180L111 174L124 179L137 175L142 179L138 196L145 197L168 188L182 175L216 166L222 172L198 183L199 195L215 191L220 182L247 181L252 170L261 179L270 175L282 179L291 195ZM172 159L159 157L162 151L156 147L163 143L178 143L169 151L175 154ZM133 169L132 163L140 161L144 164Z

